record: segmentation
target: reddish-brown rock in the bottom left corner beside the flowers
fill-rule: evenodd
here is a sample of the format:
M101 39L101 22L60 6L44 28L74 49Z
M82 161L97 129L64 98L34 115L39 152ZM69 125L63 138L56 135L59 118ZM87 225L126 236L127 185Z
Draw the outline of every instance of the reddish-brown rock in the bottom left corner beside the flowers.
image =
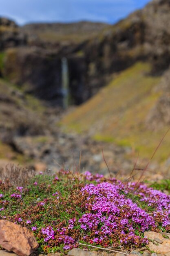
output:
M8 220L0 220L0 245L19 256L29 256L39 246L29 229Z

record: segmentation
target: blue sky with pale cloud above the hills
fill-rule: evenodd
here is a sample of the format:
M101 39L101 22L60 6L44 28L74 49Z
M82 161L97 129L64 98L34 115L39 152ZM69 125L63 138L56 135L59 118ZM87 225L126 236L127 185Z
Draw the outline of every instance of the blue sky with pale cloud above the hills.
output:
M0 16L19 25L30 22L115 23L144 7L149 0L0 0Z

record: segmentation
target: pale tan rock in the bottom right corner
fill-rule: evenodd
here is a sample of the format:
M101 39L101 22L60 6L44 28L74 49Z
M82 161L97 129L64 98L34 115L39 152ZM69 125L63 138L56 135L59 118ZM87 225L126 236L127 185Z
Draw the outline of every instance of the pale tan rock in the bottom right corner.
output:
M149 242L149 249L158 254L165 254L170 256L170 239L164 238L162 234L156 232L145 232L144 236L152 240Z

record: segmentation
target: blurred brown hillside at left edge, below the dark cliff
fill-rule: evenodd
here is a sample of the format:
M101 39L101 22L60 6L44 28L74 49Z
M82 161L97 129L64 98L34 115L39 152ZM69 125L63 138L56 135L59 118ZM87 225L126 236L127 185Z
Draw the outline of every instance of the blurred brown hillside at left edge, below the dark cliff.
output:
M24 163L31 160L17 148L16 141L24 136L49 135L46 112L48 116L48 109L41 101L0 79L0 160Z

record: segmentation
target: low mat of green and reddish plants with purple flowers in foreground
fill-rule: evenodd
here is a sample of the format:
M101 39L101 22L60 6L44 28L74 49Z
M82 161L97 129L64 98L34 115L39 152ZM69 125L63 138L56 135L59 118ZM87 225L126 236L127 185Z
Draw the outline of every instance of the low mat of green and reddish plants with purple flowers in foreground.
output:
M143 183L61 170L26 187L0 184L1 217L31 229L40 251L130 249L148 244L144 231L170 231L170 196Z

